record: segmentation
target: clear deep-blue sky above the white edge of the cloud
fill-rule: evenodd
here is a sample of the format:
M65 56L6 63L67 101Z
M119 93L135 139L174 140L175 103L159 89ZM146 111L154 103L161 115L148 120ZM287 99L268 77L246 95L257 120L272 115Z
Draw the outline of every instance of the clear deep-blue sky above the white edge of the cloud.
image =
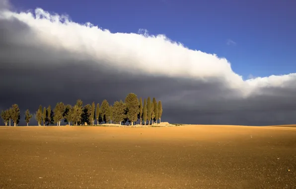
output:
M165 34L190 49L215 53L246 79L296 73L294 0L11 0L111 32ZM227 40L235 42L227 45Z

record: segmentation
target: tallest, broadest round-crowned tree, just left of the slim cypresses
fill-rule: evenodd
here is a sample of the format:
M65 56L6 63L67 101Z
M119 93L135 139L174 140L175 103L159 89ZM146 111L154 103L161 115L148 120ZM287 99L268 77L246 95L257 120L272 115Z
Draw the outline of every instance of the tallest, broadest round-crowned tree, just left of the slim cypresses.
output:
M137 95L134 93L130 93L129 95L127 95L127 97L125 98L125 104L128 109L128 119L132 122L132 125L134 125L134 121L138 120L138 113L140 112L140 104Z

